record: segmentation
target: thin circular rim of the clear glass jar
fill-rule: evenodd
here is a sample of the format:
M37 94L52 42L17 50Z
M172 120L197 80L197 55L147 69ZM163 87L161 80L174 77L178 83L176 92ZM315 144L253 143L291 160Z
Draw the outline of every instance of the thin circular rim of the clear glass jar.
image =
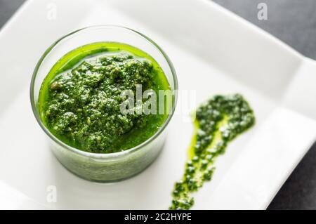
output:
M166 120L164 121L164 124L159 128L159 130L154 133L154 135L150 136L150 138L148 138L147 140L145 140L143 143L140 143L140 145L136 145L135 147L132 147L128 150L124 150L121 152L111 152L111 153L93 153L93 152L85 152L83 150L79 150L75 147L72 147L70 145L67 145L66 143L63 143L62 140L59 140L56 136L54 136L44 125L43 121L41 121L41 117L39 116L39 112L37 111L37 102L35 102L34 100L34 84L35 84L35 79L37 77L37 73L39 71L39 67L41 67L41 63L43 62L43 60L46 58L46 56L48 55L48 53L50 53L53 48L55 46L57 46L60 41L66 39L67 37L70 37L74 34L77 34L81 31L85 31L88 29L98 29L98 28L116 28L116 29L124 29L127 32L133 32L134 34L138 34L140 37L143 37L143 39L145 39L146 41L149 41L150 44L152 44L155 48L157 48L157 50L162 53L162 55L164 56L164 59L166 60L166 62L169 65L169 69L171 70L171 74L172 74L172 78L173 78L173 85L174 85L174 101L173 101L173 105L171 108L171 112L168 114L168 117L166 118ZM128 44L128 43L126 43ZM31 86L30 86L30 98L31 98L31 105L32 105L32 111L34 113L35 118L37 119L37 122L39 123L39 126L41 126L41 129L43 129L43 131L46 133L46 135L51 138L55 143L58 143L58 145L65 147L67 150L70 150L74 153L77 154L81 154L83 156L86 157L91 157L94 159L112 159L115 158L117 159L117 157L123 157L127 154L131 154L133 152L136 152L138 150L140 150L141 148L143 148L145 145L148 145L149 143L152 142L152 140L154 140L155 138L157 138L162 131L164 131L164 129L166 129L166 126L169 124L169 121L171 120L171 118L173 117L173 113L176 109L176 104L177 104L177 100L178 100L178 79L176 76L176 70L173 67L173 64L171 62L171 60L169 59L168 55L166 55L166 53L164 53L164 51L162 50L162 48L160 48L158 46L158 44L156 44L152 39L150 39L149 37L145 36L144 34L128 28L128 27L123 27L123 26L119 26L119 25L94 25L94 26L88 26L88 27L84 27L81 29L77 29L73 32L70 32L69 34L66 34L65 36L60 37L60 39L58 39L57 41L55 41L53 44L51 44L51 46L49 46L46 51L44 52L43 55L41 55L41 58L39 59L39 62L37 62L37 65L34 68L34 72L32 74L32 79L31 79Z

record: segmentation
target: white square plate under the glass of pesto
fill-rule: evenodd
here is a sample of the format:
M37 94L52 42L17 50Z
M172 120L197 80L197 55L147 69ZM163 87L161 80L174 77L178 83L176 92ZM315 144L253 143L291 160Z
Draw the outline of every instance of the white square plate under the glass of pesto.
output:
M55 19L49 14L54 9ZM131 27L162 46L176 67L180 90L197 93L190 110L216 93L242 93L249 100L256 126L218 159L213 180L197 192L193 209L265 209L314 143L316 63L206 0L38 0L15 13L0 32L0 207L167 209L171 204L192 135L185 114L173 117L152 166L112 184L91 183L65 170L32 114L29 81L41 54L64 34L100 24ZM181 98L177 110L180 105ZM57 187L55 203L46 200L50 185Z

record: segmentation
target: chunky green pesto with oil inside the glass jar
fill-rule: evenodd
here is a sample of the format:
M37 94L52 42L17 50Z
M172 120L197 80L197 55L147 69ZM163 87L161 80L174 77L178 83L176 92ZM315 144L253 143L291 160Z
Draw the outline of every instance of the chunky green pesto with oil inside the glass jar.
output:
M54 136L79 150L130 149L154 135L168 116L121 113L126 100L122 91L132 90L136 96L137 84L156 93L170 89L162 68L138 48L114 42L81 46L60 58L44 79L38 102L41 120Z

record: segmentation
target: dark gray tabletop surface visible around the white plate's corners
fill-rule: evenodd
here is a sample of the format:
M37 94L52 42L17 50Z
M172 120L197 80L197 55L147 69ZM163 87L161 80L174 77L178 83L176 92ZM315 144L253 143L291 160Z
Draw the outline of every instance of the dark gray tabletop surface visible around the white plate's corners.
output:
M0 27L24 1L0 0ZM316 60L315 0L213 1ZM257 6L261 2L268 5L268 20L257 18ZM316 143L284 183L268 209L316 209Z

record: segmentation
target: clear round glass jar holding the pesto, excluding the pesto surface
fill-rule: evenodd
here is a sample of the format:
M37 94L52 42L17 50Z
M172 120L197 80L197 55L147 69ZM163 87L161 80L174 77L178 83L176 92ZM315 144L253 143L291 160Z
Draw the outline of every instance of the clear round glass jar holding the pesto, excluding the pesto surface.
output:
M60 58L66 53L95 42L119 42L129 44L148 53L154 58L164 70L171 91L173 91L173 103L171 112L164 121L163 126L148 138L145 142L123 152L114 153L91 153L78 150L70 145L66 145L61 140L53 136L41 121L38 108L39 91L44 78ZM36 117L41 129L48 136L51 150L58 161L69 171L86 180L96 182L112 182L123 180L140 173L149 166L158 156L164 138L166 137L166 126L173 115L176 107L178 91L178 81L176 72L171 61L162 49L151 39L133 29L126 27L101 25L86 27L67 34L65 37L55 41L51 45L35 67L31 82L31 104L34 116Z

